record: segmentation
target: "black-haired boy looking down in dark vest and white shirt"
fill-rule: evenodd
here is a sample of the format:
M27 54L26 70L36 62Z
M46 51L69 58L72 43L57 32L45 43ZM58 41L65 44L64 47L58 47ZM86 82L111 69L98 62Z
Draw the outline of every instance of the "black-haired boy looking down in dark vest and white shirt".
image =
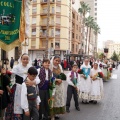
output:
M28 69L28 75L26 81L34 81L38 71L34 67ZM38 88L36 85L27 86L26 83L22 83L21 89L21 107L24 110L23 120L39 120L39 103L40 97Z

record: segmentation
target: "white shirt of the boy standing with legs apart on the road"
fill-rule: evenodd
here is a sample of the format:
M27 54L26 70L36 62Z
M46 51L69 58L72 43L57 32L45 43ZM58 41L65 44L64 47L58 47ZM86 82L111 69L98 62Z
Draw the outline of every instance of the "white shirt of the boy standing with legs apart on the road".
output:
M68 85L71 85L71 86L75 86L74 84L73 84L73 82L71 81L71 72L69 72L68 74L67 74L67 82L68 82ZM74 72L74 78L77 78L77 76L76 76L76 73ZM77 79L77 88L79 89L80 88L80 75L78 74L78 79Z

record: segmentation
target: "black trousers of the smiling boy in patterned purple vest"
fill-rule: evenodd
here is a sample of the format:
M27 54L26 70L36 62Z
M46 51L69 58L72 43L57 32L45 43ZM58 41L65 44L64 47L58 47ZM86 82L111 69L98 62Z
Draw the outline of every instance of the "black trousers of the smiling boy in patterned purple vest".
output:
M46 119L48 119L49 113L49 106L48 106L48 99L49 99L49 92L48 90L39 90L40 93L40 110L39 110L39 119L42 119L42 114Z

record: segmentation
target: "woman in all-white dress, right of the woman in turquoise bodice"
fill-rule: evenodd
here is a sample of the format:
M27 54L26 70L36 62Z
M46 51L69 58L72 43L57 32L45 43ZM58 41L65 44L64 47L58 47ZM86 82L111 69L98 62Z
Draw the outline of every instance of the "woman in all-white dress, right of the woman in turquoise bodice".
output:
M102 74L101 69L99 69L98 63L94 63L90 73L92 82L90 100L94 104L103 98L103 80L101 78L102 76L98 77L98 73Z

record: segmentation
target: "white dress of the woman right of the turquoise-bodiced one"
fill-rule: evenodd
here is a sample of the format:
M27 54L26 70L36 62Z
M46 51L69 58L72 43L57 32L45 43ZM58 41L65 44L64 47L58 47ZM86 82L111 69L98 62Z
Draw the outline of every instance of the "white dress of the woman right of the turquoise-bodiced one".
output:
M100 69L95 70L94 68L91 69L91 76L96 75L98 72L101 72ZM103 98L103 80L102 78L98 78L95 81L91 79L91 93L90 99L91 100L101 100Z

